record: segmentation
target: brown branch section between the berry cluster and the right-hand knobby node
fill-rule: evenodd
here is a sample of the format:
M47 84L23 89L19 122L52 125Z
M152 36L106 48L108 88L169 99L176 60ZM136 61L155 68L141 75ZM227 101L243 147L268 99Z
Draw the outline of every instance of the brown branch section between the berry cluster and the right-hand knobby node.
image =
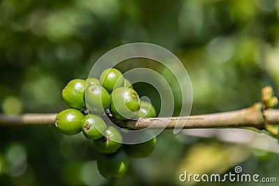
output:
M273 112L271 112L271 114L273 114ZM145 127L161 128L165 125L167 125L167 129L173 129L175 125L183 125L183 129L219 127L264 128L262 104L254 104L252 107L248 107L246 109L220 112L216 114L202 114L189 117L181 116L172 118L140 118L137 121L126 122L113 120L113 122L116 125L130 129L142 129Z

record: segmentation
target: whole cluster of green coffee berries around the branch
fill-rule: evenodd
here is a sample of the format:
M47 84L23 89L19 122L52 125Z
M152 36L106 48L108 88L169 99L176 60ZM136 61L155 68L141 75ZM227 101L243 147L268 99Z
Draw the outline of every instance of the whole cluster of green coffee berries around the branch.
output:
M108 68L102 72L100 79L73 79L63 89L62 98L71 109L57 114L57 129L68 135L82 131L84 137L93 140L100 152L98 171L105 178L125 175L128 157L151 155L156 145L155 137L142 144L121 144L121 132L113 125L107 125L101 116L105 111L120 120L156 116L153 105L140 101L133 86L119 70ZM150 134L146 132L146 135Z

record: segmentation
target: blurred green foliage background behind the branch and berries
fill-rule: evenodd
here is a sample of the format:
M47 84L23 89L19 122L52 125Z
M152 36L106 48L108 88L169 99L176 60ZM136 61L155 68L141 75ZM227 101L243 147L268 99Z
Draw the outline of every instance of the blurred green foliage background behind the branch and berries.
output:
M66 109L67 82L85 79L100 56L129 42L151 42L179 57L193 86L191 114L249 107L266 85L279 93L279 1L1 0L1 112ZM151 87L136 88L158 109ZM174 115L181 100L175 101ZM0 127L0 185L211 185L180 183L179 174L228 173L236 165L279 182L278 149L271 137L248 130L169 130L151 157L131 160L126 176L106 180L82 134Z

